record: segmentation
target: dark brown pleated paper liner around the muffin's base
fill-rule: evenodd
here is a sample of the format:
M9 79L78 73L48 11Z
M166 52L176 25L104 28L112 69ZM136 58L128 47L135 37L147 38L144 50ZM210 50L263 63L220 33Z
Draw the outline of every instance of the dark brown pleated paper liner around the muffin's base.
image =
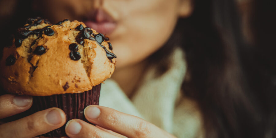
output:
M99 105L100 90L101 90L101 84L94 86L92 90L88 90L82 93L56 94L51 96L33 96L33 105L29 110L23 113L14 115L12 117L8 117L5 120L14 121L44 109L57 107L62 109L65 112L66 123L69 120L74 118L81 119L88 122L84 117L83 110L88 105ZM41 136L42 137L67 136L65 133L66 123L61 128L55 129Z

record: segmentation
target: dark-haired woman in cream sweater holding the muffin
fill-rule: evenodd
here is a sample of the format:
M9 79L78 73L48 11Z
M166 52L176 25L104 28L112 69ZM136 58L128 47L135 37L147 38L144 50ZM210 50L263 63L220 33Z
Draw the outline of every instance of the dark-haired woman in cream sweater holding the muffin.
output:
M26 4L26 1L20 4ZM274 136L275 103L271 97L275 94L272 93L273 85L269 76L274 74L274 70L266 69L275 68L272 68L272 63L266 64L270 65L268 67L256 67L250 62L254 59L261 65L259 59L263 58L264 53L268 53L268 59L273 56L269 51L262 51L260 56L254 55L262 42L260 40L268 38L257 37L258 39L253 39L256 42L252 42L254 45L251 48L246 47L233 1L175 0L168 3L165 0L71 0L34 1L30 5L38 15L51 21L77 19L86 21L91 28L104 28L101 31L110 36L118 59L113 75L116 83L109 80L107 86L103 86L100 100L103 103L100 105L146 120L102 106L90 106L85 110L86 118L101 127L79 120L70 121L66 128L69 137L173 137L168 132L178 137ZM28 8L23 6L22 9L31 15ZM22 12L22 9L19 11ZM184 18L177 22L179 17ZM107 26L99 27L106 22L108 24L104 25ZM259 32L259 25L254 25L254 34L263 34ZM271 41L265 42L272 44ZM184 52L179 52L181 50L177 47L179 45L185 51L187 66L185 59L182 59ZM176 47L176 50L172 47ZM266 74L262 74L264 70ZM170 80L174 80L173 83L169 83ZM256 83L256 80L263 83ZM159 87L166 90L157 89ZM109 88L119 90L109 91ZM265 94L260 93L263 88L266 88ZM184 96L179 95L179 91ZM107 102L107 99L112 101L112 92L117 94L115 106L112 106L113 102ZM154 97L155 94L158 98ZM167 95L163 96L164 94ZM12 98L11 95L1 96L1 118L22 112L31 106L30 98L22 97L21 100L16 97L15 101L19 102L13 103L24 107L13 103L7 106L7 101L13 101ZM148 99L145 100L146 98ZM148 102L151 100L154 101ZM120 108L119 105L123 107ZM59 115L55 116L55 113L47 114L49 111L47 109L25 119L0 125L0 134L7 137L31 137L62 126L65 119L63 112L57 109ZM44 117L46 121L43 120ZM47 117L50 118L48 121ZM30 118L37 120L37 123L32 123ZM11 133L12 131L16 133Z

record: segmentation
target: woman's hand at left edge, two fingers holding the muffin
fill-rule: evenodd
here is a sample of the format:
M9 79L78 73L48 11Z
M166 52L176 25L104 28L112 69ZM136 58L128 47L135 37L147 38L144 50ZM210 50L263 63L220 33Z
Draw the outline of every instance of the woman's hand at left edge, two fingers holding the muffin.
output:
M30 96L1 95L0 119L24 112L32 106L32 103L33 98ZM61 109L49 108L0 125L0 137L30 138L59 128L65 122L66 116Z

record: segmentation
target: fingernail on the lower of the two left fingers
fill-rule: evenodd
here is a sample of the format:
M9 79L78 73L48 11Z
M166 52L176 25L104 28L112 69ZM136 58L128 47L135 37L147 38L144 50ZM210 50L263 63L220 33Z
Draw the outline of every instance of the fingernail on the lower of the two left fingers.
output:
M57 125L62 121L61 113L57 109L53 109L46 115L48 123Z

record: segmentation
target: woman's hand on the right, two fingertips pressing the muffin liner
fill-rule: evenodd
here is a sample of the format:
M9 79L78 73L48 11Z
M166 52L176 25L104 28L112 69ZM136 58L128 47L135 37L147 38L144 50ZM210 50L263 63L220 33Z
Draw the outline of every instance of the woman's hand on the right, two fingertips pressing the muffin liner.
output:
M96 126L79 119L68 121L65 132L69 137L174 137L139 117L111 108L90 105L84 109L84 114L86 119Z

